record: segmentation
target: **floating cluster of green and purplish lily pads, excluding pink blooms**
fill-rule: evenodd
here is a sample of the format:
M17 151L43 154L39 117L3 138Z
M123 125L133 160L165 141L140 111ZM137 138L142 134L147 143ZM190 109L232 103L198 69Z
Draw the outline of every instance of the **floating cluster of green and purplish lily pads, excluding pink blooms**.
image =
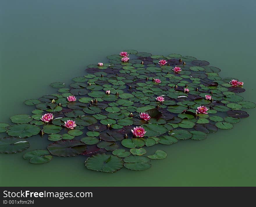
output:
M33 106L30 115L10 117L13 125L0 123L0 133L7 133L0 139L0 152L24 151L30 147L26 138L40 134L51 143L27 151L23 157L30 163L84 156L85 167L95 171L145 170L151 167L150 160L167 157L163 150L147 154L148 147L204 140L218 129L232 129L249 116L244 109L256 106L240 96L245 91L242 86L230 84L234 78L221 78L220 69L205 60L124 52L129 54L128 62L119 54L107 56L109 63L88 65L85 75L73 78L69 87L52 83L58 90L55 94L26 100ZM174 67L180 68L178 72ZM69 96L75 98L69 101ZM196 113L200 106L207 107L207 113ZM53 115L48 123L41 120L45 113ZM141 119L139 113L150 119ZM75 122L74 129L65 127L67 120ZM145 129L144 136L134 137L131 130L136 126Z

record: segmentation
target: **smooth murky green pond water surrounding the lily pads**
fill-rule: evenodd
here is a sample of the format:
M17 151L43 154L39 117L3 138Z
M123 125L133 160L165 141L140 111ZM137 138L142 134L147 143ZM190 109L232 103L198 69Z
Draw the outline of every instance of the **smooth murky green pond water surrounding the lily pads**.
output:
M55 93L50 83L68 85L85 75L86 65L104 63L124 49L207 60L221 69L221 77L243 80L241 96L256 102L253 1L2 1L0 15L1 122L30 114L23 101ZM83 156L32 165L23 152L1 154L0 185L255 186L256 111L246 111L250 117L231 130L161 145L168 157L141 172L90 171ZM28 139L30 150L48 142L39 135Z

